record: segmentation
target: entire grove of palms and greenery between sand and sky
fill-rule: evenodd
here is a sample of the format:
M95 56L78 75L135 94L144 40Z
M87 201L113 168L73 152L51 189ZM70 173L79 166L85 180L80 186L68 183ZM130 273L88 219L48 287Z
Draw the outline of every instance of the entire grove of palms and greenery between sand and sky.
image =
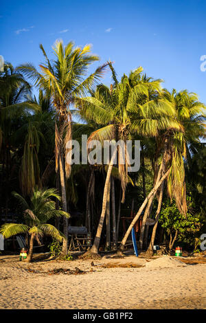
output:
M38 68L5 63L0 72L1 234L27 236L29 261L43 234L67 256L68 221L80 212L76 225L93 238L84 257L98 257L100 248L122 254L140 219L139 249L153 253L164 241L170 252L175 241L194 247L205 228L205 104L186 89L164 89L142 67L119 78L108 61L89 74L100 60L89 45L56 41L54 59L40 49ZM101 82L104 73L111 85ZM127 152L120 148L107 165L83 158L72 165L67 142L77 140L82 157L82 135L88 154L92 140L100 149L105 140L121 140L125 149L127 140L140 140L139 171L130 172L128 159L121 164Z

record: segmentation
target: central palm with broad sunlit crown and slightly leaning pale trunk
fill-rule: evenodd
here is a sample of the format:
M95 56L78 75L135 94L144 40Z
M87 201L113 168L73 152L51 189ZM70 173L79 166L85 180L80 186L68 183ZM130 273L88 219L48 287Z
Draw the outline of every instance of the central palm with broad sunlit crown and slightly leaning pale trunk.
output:
M104 125L94 131L88 140L123 140L126 143L131 133L141 135L156 135L160 129L168 125L168 114L170 115L170 104L158 98L161 80L152 80L145 74L141 74L142 67L124 75L121 82L117 82L115 71L109 63L113 72L115 85L108 89L105 85L99 85L91 96L76 100L80 109L80 115L86 120L94 120L97 124ZM105 126L106 124L106 126ZM128 183L128 164L120 164L121 149L118 150L119 179L122 184L122 203L124 203L126 185ZM100 244L100 236L106 212L106 197L110 185L111 171L113 168L113 156L106 175L104 194L102 201L102 214L93 247L85 257L96 257Z

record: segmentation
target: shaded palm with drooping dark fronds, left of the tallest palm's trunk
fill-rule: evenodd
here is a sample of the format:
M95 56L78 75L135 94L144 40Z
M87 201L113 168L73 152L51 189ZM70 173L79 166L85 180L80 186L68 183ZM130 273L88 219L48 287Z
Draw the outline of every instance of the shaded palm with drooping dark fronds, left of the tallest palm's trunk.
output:
M36 105L38 111L22 115L22 125L14 133L12 139L16 147L23 144L19 179L21 192L27 196L32 193L35 186L46 186L49 172L51 173L54 169L51 167L50 169L49 166L54 164L55 116L49 98L45 97L41 91L38 100L27 96L25 102ZM16 153L19 153L19 149ZM41 172L43 172L42 178Z

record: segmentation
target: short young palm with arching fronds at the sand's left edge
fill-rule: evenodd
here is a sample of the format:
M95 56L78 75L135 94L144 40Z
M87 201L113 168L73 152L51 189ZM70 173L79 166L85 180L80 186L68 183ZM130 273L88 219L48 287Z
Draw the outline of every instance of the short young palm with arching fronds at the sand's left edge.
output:
M62 241L62 238L65 238L62 232L57 230L54 225L47 222L54 216L65 216L69 218L69 213L62 210L56 210L55 201L52 201L52 198L56 198L60 201L60 196L54 188L43 190L34 189L30 199L30 205L28 205L27 201L25 201L20 194L16 192L13 192L12 194L21 204L25 224L5 223L1 226L0 233L5 238L10 238L10 236L15 236L16 234L29 234L30 248L26 261L30 263L33 256L34 238L38 240L38 238L44 234L52 236L58 241Z

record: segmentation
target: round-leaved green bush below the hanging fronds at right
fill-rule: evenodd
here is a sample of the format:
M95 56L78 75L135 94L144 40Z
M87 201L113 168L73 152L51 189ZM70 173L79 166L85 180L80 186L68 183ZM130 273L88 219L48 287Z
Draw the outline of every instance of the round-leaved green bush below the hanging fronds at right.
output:
M159 222L170 236L170 252L176 240L190 245L194 244L195 234L201 229L199 216L193 214L191 208L186 215L181 214L176 204L174 202L170 204L169 200L166 201L161 211Z

